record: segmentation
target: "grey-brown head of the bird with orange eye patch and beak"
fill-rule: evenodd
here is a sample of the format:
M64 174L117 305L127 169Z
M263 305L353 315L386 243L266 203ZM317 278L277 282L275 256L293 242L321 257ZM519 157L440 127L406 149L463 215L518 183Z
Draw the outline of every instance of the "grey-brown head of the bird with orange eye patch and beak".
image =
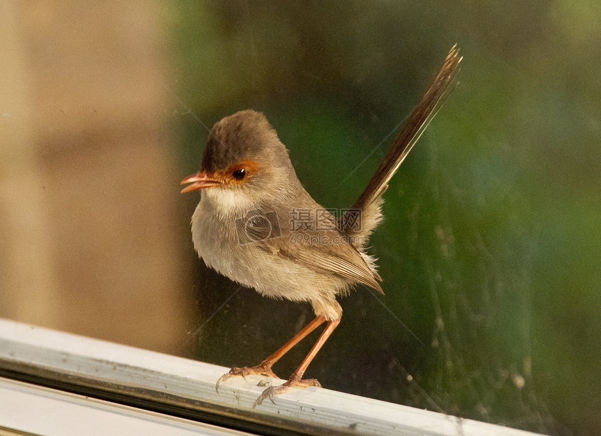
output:
M296 186L288 151L263 114L240 111L215 123L201 171L182 180L182 192L219 187L273 191ZM273 189L270 189L273 188Z

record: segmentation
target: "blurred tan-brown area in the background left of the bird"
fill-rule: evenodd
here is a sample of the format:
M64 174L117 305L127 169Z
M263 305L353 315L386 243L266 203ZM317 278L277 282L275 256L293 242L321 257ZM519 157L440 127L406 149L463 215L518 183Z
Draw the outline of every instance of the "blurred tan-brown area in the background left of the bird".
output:
M191 279L154 4L0 8L0 316L177 351Z

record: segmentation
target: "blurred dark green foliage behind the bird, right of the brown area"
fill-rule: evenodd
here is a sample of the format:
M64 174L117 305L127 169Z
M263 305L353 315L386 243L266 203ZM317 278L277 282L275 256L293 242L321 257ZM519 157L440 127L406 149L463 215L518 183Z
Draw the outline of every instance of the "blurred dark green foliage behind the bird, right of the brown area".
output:
M600 2L177 2L168 25L177 95L209 127L263 111L325 207L352 204L459 43L460 83L392 180L370 241L383 303L425 345L361 288L307 376L599 434ZM174 124L182 174L197 171L207 132L184 107ZM198 268L206 318L237 286ZM204 327L197 357L255 365L311 316L243 289ZM312 340L276 365L281 377Z

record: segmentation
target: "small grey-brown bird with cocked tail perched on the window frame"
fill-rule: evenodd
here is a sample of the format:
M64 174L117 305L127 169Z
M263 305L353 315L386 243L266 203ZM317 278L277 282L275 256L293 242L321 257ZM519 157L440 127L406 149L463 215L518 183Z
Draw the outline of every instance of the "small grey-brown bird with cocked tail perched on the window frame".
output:
M182 193L201 190L192 215L192 240L207 267L267 297L308 301L316 318L257 366L232 368L231 377L278 378L272 366L320 324L325 330L301 366L280 386L267 387L253 408L291 387L321 387L303 379L309 363L340 323L337 295L359 283L382 292L376 259L365 245L382 220L382 194L442 104L458 71L457 45L445 58L426 94L355 204L334 217L317 204L296 177L288 150L263 114L240 111L210 131L201 170L186 177Z

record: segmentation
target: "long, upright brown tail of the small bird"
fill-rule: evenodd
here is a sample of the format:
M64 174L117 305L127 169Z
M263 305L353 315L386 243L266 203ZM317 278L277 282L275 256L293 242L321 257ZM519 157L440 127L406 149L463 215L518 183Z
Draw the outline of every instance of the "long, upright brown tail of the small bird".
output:
M340 222L340 228L344 234L352 236L355 246L363 247L369 238L369 235L382 220L382 194L388 188L388 182L392 178L398 167L401 165L413 145L424 133L426 127L432 121L432 118L438 113L444 102L445 92L454 82L454 77L459 71L457 67L462 57L459 56L457 44L453 46L442 66L432 81L430 88L421 98L418 105L413 109L409 118L397 139L392 144L391 149L380 163L376 173L361 193L353 207L352 211L347 212ZM448 95L448 94L447 94ZM356 225L356 211L361 212L361 225Z

